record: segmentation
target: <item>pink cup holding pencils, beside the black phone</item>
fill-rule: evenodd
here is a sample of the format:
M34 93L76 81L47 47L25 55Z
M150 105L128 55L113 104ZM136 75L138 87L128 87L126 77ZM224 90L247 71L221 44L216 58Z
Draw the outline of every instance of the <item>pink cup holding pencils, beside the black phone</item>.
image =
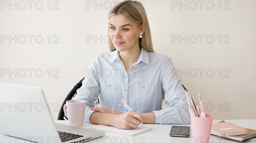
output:
M192 136L195 143L209 143L211 129L212 129L212 118L210 114L206 114L206 118L191 116L191 128Z

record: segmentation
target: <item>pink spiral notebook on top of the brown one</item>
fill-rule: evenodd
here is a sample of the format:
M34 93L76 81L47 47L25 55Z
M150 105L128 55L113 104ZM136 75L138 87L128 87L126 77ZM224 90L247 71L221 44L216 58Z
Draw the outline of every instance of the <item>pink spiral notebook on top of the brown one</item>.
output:
M214 135L218 135L219 137L225 137L230 135L246 135L248 130L232 122L213 123L212 133Z

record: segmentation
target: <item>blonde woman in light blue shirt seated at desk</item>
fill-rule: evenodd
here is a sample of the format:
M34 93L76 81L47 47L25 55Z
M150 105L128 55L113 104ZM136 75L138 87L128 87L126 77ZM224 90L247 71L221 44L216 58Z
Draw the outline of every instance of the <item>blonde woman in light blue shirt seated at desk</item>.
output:
M84 121L120 129L133 129L142 122L190 123L186 90L172 72L171 59L154 53L142 4L127 0L111 9L109 35L111 52L93 58L77 90L76 99L87 101ZM162 89L167 109L162 109ZM99 96L103 108L94 108ZM121 99L134 111L126 112Z

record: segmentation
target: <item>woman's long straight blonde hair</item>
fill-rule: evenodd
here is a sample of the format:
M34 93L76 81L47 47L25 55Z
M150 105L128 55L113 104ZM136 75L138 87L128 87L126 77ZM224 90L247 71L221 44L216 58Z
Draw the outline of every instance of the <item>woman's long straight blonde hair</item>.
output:
M148 24L148 17L143 5L140 2L132 0L122 1L121 3L118 3L114 8L112 8L111 11L109 11L108 19L114 14L121 14L128 20L137 23L139 26L143 25L145 31L143 37L139 38L140 46L142 46L148 52L154 52L151 32ZM109 30L110 27L108 26L108 34ZM108 46L111 52L116 50L112 42L110 42Z

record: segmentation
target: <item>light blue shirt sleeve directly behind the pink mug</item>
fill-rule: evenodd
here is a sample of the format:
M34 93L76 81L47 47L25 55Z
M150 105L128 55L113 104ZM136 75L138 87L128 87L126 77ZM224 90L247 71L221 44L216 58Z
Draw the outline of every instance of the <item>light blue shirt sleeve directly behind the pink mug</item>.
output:
M94 112L90 107L94 107L94 101L99 97L99 77L97 75L98 64L96 57L92 59L86 75L82 81L82 86L76 91L77 96L74 100L86 101L86 109L84 114L84 122L90 123L90 115Z

